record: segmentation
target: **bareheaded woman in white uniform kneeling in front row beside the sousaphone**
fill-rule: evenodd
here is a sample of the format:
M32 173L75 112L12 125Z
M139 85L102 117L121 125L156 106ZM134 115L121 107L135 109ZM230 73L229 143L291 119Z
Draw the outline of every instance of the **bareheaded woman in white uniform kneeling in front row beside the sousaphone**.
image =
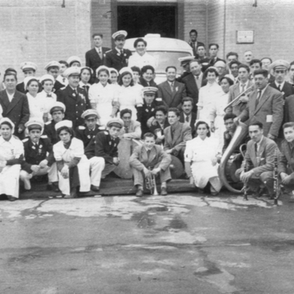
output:
M218 195L221 181L218 175L218 141L210 137L207 123L196 123L196 138L187 141L185 150L185 171L190 183L198 187L199 192L209 184L210 193Z

